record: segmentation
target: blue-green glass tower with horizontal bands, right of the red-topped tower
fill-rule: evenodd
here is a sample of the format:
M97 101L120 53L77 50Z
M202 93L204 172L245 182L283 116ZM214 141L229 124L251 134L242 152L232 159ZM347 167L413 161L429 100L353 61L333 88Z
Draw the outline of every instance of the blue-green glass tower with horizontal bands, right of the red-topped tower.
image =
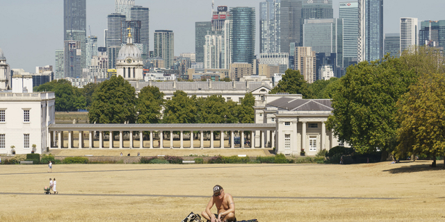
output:
M255 8L230 8L232 62L252 64L255 59Z

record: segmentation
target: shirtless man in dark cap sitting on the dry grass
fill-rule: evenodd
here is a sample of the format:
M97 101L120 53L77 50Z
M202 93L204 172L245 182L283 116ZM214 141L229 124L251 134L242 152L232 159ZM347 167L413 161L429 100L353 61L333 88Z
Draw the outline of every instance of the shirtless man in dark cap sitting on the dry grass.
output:
M218 214L211 213L210 209L213 205L216 205ZM201 215L210 222L236 221L234 198L230 194L225 194L223 187L216 185L213 187L213 196L211 196L206 210Z

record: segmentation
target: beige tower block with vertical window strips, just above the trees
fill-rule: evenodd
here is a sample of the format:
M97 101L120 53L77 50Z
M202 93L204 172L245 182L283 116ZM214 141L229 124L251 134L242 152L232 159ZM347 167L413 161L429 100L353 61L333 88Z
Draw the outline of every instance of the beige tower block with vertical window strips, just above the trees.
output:
M316 81L316 55L311 47L296 47L295 50L295 69L300 70L307 83Z

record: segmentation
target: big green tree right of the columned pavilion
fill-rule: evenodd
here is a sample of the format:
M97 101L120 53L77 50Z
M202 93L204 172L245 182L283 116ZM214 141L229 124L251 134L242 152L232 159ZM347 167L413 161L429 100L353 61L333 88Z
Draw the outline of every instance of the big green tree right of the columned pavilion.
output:
M414 80L414 72L388 55L348 67L334 93L327 127L358 153L388 150L398 128L396 102Z

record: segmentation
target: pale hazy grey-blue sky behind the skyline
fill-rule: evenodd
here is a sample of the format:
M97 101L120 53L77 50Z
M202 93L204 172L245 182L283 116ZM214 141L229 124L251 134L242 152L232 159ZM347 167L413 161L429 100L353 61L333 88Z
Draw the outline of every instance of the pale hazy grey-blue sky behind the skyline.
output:
M257 8L256 53L259 51L259 2L264 0L215 0L216 6ZM330 0L334 17L339 17L339 2ZM115 11L114 0L87 0L87 35L98 37L104 46L106 15ZM150 9L150 50L158 29L175 33L175 56L195 52L195 22L211 19L211 0L135 0L135 5ZM423 20L445 19L444 0L384 0L384 33L399 33L400 17ZM62 0L13 0L0 4L0 48L11 69L34 73L35 67L53 65L56 49L63 49Z

